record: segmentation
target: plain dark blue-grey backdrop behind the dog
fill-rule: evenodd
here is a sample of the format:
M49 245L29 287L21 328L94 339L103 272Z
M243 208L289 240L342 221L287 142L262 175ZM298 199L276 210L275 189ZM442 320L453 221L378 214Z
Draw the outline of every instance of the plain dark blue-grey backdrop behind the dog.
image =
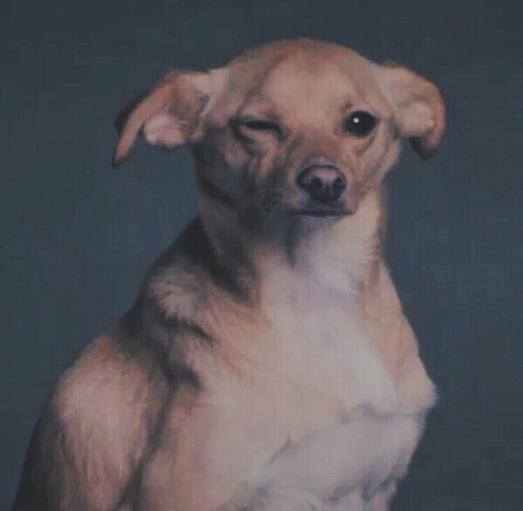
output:
M502 1L3 1L0 508L45 395L195 213L187 150L120 170L114 114L169 67L306 35L396 60L448 101L389 176L389 263L441 393L396 511L523 503L522 13Z

